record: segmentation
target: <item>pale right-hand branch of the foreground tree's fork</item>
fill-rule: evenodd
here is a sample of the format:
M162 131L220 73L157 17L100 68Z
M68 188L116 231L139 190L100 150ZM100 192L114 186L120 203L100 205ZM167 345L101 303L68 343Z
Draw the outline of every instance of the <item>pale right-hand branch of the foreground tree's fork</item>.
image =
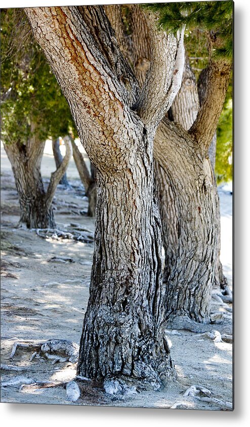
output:
M140 97L133 107L147 127L156 128L181 87L184 67L184 28L175 36L159 31L148 13L151 63Z

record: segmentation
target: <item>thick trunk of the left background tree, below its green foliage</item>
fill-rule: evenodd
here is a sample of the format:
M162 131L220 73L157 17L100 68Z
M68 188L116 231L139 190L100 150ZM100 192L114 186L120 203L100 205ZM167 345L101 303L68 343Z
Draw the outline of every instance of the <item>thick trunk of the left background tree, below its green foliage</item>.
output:
M20 225L27 228L54 228L54 216L48 205L40 163L45 144L37 147L30 156L28 146L4 145L11 162L21 210Z

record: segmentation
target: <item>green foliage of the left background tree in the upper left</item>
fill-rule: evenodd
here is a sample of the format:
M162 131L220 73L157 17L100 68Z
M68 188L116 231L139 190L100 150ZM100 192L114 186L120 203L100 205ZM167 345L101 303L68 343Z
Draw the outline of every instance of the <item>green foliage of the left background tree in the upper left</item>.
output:
M22 9L1 19L1 127L6 144L43 141L73 127L69 106Z

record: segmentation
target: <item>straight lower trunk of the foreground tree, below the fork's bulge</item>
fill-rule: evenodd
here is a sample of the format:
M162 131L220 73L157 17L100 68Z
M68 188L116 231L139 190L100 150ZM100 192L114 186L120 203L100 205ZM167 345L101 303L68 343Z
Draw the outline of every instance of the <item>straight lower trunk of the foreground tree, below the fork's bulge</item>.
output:
M174 373L163 336L160 220L148 165L97 174L90 300L77 372L155 388Z

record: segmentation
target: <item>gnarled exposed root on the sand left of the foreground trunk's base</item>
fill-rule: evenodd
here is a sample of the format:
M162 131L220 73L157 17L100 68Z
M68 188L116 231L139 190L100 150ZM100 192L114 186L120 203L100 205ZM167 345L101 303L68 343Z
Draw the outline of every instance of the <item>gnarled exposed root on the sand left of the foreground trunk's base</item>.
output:
M53 364L57 362L76 363L78 360L79 346L73 341L52 339L43 342L15 342L13 344L10 359L13 359L17 348L34 349L30 361L34 358L53 360Z

